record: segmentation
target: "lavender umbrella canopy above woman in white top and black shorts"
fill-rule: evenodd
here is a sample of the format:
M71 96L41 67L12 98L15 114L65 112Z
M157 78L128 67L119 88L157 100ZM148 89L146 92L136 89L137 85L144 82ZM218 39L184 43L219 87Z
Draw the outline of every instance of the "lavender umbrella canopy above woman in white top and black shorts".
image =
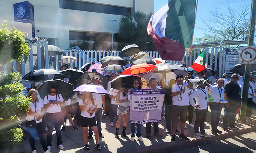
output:
M95 85L81 85L73 91L90 92L90 93L97 93L97 94L109 94L108 91L106 91L101 86L95 86Z

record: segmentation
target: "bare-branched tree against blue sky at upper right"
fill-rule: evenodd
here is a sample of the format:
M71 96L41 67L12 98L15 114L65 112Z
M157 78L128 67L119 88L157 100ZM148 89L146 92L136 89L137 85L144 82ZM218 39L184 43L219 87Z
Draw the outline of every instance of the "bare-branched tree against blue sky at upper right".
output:
M202 19L207 28L201 29L211 32L214 34L212 37L217 36L221 40L244 41L249 35L251 3L246 4L243 0L241 3L223 4L225 9L212 11L211 18Z

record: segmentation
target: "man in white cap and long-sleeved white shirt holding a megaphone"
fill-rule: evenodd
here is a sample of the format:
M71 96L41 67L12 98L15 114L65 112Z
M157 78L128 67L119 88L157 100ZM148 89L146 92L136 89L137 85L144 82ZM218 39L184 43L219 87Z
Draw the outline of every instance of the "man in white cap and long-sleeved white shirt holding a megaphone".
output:
M196 121L195 121L195 135L194 137L196 139L201 139L201 136L203 137L211 137L209 134L207 134L204 130L204 122L206 121L206 116L208 112L208 92L205 90L205 87L207 86L208 80L199 79L197 81L197 87L193 91L193 93L189 96L189 102L192 106L194 106L195 113L196 113ZM208 85L210 86L210 85ZM195 98L196 103L193 101L193 98ZM199 133L199 126L200 126L200 133Z

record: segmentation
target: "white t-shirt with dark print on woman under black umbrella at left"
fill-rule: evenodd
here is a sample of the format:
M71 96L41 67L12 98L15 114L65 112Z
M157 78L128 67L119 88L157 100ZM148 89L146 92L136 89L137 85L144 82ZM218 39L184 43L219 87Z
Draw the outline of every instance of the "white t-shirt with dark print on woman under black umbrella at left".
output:
M55 96L48 95L48 99L47 99L47 96L45 96L44 104L48 104L50 101L60 101L60 102L63 102L64 99L62 98L61 94L59 94L59 96L58 95L55 95ZM48 107L48 109L46 109L47 113L58 113L60 111L61 111L60 104L55 104L55 105L51 104Z

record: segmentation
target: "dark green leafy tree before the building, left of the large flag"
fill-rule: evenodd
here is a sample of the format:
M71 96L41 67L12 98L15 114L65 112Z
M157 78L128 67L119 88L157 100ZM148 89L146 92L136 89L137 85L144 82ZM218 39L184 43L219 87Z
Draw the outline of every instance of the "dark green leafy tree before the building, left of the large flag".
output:
M152 13L146 15L143 12L135 12L132 16L128 13L122 16L119 22L118 35L118 50L121 50L128 44L137 44L140 50L155 51L154 39L147 34L147 24Z

